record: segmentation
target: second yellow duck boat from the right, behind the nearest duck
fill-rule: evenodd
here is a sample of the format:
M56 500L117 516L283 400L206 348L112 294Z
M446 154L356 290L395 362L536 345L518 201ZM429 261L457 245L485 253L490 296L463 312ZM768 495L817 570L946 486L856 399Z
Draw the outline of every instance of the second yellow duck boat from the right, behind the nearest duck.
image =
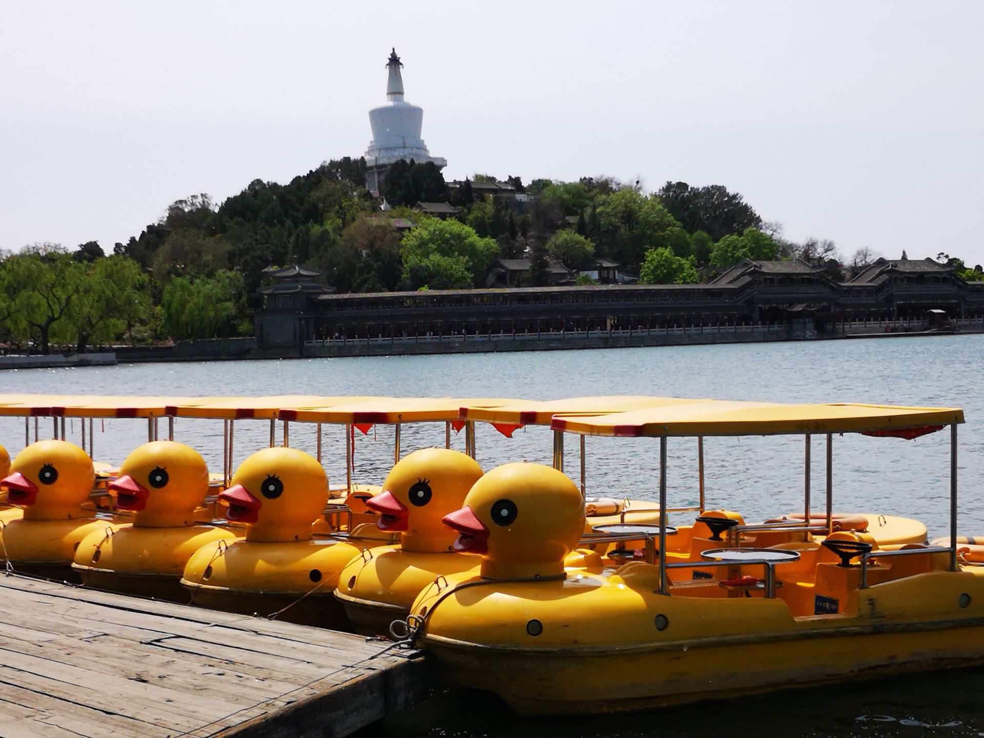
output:
M477 568L473 556L455 551L455 533L441 520L461 507L481 475L477 461L448 449L415 451L393 467L366 505L381 530L400 532L400 545L353 559L338 578L336 596L356 632L388 635L436 577Z

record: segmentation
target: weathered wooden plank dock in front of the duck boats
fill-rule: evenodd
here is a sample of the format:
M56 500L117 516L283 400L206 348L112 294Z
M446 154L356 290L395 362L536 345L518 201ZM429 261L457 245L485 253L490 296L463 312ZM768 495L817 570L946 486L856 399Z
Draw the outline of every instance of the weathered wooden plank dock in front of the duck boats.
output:
M343 736L431 685L388 646L0 575L0 736Z

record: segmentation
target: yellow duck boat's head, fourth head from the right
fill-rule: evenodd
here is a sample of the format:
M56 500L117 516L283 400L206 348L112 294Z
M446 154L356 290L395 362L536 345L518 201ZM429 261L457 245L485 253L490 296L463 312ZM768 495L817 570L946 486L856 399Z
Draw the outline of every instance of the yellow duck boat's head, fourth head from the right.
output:
M209 492L209 468L190 446L154 441L123 461L109 492L119 510L134 513L137 527L192 525Z

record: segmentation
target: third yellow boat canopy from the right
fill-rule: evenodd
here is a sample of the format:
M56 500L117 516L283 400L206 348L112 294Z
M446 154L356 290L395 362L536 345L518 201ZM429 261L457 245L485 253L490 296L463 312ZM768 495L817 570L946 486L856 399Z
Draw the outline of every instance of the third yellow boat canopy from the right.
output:
M519 400L476 398L376 398L368 402L353 402L334 407L284 409L281 420L301 420L312 423L417 423L424 421L450 422L459 419L462 405L476 407L512 404Z

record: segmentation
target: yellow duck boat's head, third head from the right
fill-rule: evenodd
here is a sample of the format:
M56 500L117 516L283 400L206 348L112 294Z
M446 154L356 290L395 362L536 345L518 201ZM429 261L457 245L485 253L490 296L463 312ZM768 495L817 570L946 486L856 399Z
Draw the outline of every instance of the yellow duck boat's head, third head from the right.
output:
M218 499L229 506L229 521L246 523L246 540L275 542L309 540L328 495L328 476L314 457L274 447L243 461Z

